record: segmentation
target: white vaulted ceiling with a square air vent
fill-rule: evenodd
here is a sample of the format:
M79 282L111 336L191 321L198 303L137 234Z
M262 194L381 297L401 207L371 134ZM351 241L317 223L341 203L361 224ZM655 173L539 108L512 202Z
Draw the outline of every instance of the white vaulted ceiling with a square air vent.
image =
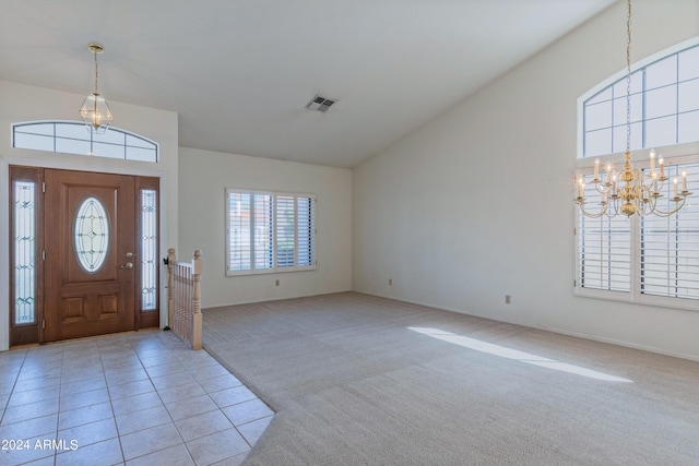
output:
M87 94L97 41L107 101L181 146L352 167L614 1L3 0L0 80Z

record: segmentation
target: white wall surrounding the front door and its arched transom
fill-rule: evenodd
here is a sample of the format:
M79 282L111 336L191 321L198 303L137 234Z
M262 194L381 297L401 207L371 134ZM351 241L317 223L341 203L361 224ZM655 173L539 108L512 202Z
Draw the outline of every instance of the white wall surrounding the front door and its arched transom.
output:
M167 255L167 246L177 244L178 196L178 136L177 113L109 100L112 126L142 134L159 143L157 164L116 160L82 155L54 154L12 147L11 124L35 120L80 120L78 109L84 95L62 93L39 87L0 81L0 350L9 345L9 186L10 165L43 166L74 170L143 175L161 178L161 253ZM161 309L167 309L163 292L166 274L161 279ZM165 323L167 312L161 312Z

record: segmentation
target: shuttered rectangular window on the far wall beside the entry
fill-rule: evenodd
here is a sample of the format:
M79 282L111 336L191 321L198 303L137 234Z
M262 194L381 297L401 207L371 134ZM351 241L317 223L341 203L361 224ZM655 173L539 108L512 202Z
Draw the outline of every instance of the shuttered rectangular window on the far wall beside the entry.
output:
M226 275L316 268L316 198L226 190Z

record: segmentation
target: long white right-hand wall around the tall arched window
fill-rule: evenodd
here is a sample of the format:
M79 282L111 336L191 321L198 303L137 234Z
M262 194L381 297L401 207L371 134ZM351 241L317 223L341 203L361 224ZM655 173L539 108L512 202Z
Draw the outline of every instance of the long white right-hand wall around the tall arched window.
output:
M632 24L641 59L699 35L699 2ZM356 167L354 288L699 359L699 312L573 295L577 99L625 63L617 2Z

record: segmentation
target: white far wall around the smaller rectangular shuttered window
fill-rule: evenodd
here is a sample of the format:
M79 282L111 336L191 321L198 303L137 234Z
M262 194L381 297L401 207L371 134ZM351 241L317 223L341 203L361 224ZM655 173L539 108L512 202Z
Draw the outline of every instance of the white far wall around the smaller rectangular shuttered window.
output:
M180 147L178 260L202 251L202 307L352 289L352 171ZM316 271L225 276L225 189L317 195ZM275 280L280 286L275 286Z

